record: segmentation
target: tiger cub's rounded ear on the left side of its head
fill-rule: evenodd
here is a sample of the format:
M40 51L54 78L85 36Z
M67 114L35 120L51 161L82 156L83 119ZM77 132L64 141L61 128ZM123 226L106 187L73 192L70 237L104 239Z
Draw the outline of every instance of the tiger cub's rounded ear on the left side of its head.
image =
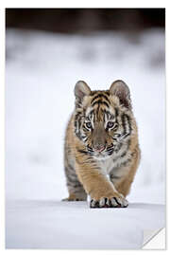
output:
M75 96L76 100L82 101L84 96L88 96L91 94L91 89L84 81L78 81L75 85Z

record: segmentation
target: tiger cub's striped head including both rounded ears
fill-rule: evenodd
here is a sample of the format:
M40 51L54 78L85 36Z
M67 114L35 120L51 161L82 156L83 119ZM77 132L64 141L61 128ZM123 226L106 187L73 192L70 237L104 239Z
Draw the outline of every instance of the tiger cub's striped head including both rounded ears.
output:
M76 82L75 134L86 154L105 159L119 152L133 134L133 116L127 84L115 81L110 90L91 91L86 82Z

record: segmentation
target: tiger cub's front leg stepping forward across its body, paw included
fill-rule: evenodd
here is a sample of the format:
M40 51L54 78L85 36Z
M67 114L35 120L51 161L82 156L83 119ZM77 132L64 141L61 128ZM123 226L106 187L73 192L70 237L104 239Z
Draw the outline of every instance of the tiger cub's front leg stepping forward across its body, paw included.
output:
M117 192L108 177L89 164L76 162L76 174L91 196L91 208L127 207L127 200Z

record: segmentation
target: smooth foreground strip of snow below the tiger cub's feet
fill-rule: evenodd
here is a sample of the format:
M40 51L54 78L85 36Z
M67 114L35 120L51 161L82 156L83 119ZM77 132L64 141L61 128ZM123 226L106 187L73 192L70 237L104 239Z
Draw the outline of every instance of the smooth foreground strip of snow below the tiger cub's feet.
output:
M21 200L7 208L8 248L141 248L143 230L164 225L160 205L92 210L85 202Z

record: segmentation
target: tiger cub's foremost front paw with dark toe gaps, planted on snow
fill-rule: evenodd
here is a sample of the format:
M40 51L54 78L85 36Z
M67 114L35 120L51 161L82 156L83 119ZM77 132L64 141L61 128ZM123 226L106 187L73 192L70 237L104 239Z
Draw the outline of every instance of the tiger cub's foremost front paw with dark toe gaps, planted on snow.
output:
M91 200L90 208L126 208L128 201L124 196L102 197L99 200Z

